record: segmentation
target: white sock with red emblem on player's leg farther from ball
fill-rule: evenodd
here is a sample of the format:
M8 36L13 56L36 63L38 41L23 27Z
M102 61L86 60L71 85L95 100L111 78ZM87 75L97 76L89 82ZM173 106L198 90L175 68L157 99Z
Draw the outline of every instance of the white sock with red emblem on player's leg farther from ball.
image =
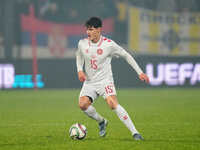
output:
M126 127L131 131L132 135L138 133L128 113L121 105L118 104L116 109L114 109L114 112L117 114L119 119L126 125Z

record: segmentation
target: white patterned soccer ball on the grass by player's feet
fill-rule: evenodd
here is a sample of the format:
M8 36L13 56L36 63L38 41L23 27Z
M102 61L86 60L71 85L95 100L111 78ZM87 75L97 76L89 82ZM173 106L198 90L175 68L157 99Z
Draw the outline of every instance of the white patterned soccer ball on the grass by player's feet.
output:
M69 136L73 140L82 140L87 135L87 129L83 124L75 123L69 129Z

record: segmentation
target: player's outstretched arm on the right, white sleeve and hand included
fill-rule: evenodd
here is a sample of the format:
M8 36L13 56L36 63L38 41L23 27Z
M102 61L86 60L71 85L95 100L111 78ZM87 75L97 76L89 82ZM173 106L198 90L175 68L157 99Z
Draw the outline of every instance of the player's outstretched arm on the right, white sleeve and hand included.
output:
M145 81L146 83L149 83L149 77L145 73L143 73L142 69L139 67L135 59L128 52L126 52L122 47L120 47L114 42L113 42L113 50L114 51L112 55L123 57L131 65L131 67L137 72L139 79L141 81Z

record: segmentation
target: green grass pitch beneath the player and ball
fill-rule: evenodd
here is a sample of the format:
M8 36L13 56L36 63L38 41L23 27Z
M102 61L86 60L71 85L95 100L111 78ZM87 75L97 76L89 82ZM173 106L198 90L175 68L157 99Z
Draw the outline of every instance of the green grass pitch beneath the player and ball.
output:
M145 141L134 141L102 98L94 106L109 120L108 134L78 105L78 90L0 91L0 150L199 150L199 89L118 90ZM86 125L87 137L73 141L68 129Z

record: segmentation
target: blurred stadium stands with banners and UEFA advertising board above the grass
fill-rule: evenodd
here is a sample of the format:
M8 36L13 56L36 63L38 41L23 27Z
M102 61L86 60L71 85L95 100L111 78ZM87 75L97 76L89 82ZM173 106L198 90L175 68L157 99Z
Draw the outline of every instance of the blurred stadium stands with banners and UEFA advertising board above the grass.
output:
M91 16L134 55L147 87L200 87L199 0L1 0L0 89L80 88L75 51ZM146 86L113 62L117 87Z

